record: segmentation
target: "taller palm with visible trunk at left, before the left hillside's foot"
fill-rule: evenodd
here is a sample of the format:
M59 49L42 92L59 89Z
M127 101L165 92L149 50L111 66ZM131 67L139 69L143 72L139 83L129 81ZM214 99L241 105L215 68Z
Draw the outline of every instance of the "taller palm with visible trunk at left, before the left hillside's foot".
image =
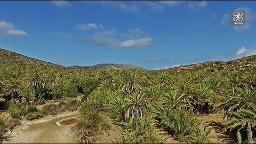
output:
M38 90L44 86L44 77L41 68L33 68L28 73L28 86L35 90L35 100L39 98Z

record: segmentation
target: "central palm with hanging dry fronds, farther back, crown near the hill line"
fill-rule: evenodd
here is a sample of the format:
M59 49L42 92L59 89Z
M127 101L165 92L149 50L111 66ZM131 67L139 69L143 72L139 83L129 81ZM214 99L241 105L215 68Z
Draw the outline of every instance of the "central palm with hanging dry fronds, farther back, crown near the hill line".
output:
M122 91L125 95L131 95L134 91L140 90L139 86L139 75L136 71L125 71L123 76L124 86L122 87Z

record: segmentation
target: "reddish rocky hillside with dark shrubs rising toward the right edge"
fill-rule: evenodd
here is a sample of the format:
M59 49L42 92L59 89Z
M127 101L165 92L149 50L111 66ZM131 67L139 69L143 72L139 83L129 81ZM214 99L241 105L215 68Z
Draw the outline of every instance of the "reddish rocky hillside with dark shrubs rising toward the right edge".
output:
M183 70L189 71L206 71L209 73L218 73L219 71L230 68L232 70L241 70L246 73L249 71L256 71L256 55L243 57L241 59L231 61L207 61L203 63L197 63L193 65L180 66L175 68L163 69L167 73L175 74Z

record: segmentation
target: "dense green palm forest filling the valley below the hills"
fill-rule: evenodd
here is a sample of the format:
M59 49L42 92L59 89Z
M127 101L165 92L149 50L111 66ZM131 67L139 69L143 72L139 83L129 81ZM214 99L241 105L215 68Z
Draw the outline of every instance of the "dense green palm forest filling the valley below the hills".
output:
M77 142L94 142L108 131L110 117L121 127L113 143L163 143L161 130L179 142L212 143L210 130L234 142L253 143L256 124L255 71L229 68L219 73L184 70L176 74L147 70L83 70L5 65L0 68L1 139L22 119L78 110ZM81 101L76 98L83 95ZM58 105L44 105L59 101ZM37 106L43 105L39 109ZM201 129L200 115L222 114ZM206 129L210 128L210 129Z

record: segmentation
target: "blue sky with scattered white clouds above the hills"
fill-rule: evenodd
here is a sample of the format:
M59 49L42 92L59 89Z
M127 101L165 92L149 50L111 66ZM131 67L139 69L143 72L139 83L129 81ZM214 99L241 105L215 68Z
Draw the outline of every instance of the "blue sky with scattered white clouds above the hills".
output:
M163 69L256 54L253 1L1 1L0 47L63 66ZM230 12L244 10L245 26Z

